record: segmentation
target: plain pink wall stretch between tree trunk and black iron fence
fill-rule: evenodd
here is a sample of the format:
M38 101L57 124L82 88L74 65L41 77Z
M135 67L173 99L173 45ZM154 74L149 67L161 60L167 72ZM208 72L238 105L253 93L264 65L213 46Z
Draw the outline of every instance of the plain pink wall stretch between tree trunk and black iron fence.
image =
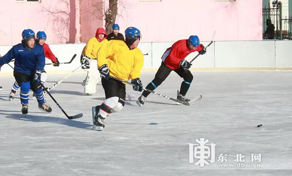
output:
M135 26L143 42L176 41L189 35L211 40L262 40L262 0L123 0L121 30ZM127 13L125 12L127 11ZM128 17L127 17L128 16Z

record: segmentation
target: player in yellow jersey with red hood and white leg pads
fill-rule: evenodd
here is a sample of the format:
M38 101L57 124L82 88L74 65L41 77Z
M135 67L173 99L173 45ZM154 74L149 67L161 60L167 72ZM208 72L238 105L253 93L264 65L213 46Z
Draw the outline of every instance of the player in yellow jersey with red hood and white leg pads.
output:
M82 82L86 95L92 95L96 91L96 84L101 81L97 70L97 51L102 45L108 42L107 32L103 28L98 28L94 37L88 40L83 48L81 63L85 64L82 69L88 70L85 80Z

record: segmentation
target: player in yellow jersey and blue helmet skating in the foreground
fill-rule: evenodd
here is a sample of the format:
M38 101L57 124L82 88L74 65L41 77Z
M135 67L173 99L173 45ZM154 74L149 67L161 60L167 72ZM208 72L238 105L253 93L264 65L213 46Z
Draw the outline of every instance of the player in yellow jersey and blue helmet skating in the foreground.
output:
M92 107L93 130L101 131L105 127L105 118L112 112L119 112L125 106L126 85L110 76L135 84L133 89L142 91L140 72L144 64L143 53L137 48L141 33L135 27L125 31L126 41L110 40L98 53L98 70L106 100L101 106Z

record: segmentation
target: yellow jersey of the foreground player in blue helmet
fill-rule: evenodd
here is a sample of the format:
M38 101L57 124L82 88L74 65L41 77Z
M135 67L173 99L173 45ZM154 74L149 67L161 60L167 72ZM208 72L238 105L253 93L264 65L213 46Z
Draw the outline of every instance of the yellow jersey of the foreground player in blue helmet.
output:
M140 49L130 50L122 40L110 40L97 53L98 68L107 64L110 75L124 81L140 78L144 55Z

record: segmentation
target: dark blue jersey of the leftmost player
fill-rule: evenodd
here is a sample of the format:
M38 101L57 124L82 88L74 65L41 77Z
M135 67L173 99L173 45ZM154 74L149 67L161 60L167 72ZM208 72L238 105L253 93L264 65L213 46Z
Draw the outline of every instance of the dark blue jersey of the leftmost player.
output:
M32 49L22 43L13 46L0 59L0 66L8 64L12 59L15 59L14 70L20 73L32 74L35 70L44 70L45 67L44 49L38 43Z

